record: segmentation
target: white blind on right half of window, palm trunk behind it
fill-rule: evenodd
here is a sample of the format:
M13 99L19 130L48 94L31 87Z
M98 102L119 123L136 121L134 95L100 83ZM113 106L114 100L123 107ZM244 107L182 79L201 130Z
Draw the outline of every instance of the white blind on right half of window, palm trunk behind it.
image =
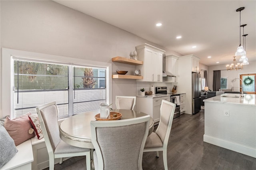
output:
M106 69L74 66L73 115L95 111L106 102Z

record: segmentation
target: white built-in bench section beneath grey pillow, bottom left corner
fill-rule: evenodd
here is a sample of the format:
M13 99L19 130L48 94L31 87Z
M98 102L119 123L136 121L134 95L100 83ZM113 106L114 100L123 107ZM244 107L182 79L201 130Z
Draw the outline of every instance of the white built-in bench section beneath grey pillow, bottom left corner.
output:
M31 170L34 160L31 140L16 146L18 152L0 170Z

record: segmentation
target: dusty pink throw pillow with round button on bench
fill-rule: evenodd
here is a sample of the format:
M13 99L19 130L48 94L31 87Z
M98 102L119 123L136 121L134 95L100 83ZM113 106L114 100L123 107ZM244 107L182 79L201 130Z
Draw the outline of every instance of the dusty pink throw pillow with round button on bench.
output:
M31 113L12 120L9 117L6 117L6 120L4 121L4 127L14 140L15 146L36 136L28 119L28 115L31 115Z

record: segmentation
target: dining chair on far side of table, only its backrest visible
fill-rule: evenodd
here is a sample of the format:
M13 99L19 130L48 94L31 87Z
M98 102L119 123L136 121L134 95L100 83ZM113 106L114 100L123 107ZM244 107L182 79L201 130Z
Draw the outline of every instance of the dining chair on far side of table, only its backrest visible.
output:
M134 96L116 96L116 109L133 110L136 104Z

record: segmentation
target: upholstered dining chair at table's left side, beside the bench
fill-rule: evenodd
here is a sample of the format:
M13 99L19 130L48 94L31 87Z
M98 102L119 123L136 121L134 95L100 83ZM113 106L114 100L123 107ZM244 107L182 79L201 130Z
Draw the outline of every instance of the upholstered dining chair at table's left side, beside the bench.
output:
M56 102L51 102L36 107L38 119L44 134L44 140L49 155L49 169L54 170L54 158L60 158L62 164L63 158L73 156L86 156L86 169L90 170L90 149L79 148L65 143L60 138L58 127L58 107Z

